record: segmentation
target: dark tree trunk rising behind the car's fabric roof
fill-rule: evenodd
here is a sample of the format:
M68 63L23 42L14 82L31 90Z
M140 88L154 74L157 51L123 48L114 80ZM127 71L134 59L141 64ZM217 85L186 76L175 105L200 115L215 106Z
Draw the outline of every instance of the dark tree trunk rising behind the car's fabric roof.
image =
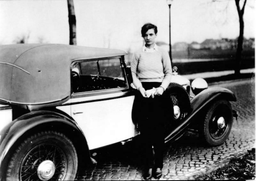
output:
M69 45L76 45L76 15L73 0L68 0Z

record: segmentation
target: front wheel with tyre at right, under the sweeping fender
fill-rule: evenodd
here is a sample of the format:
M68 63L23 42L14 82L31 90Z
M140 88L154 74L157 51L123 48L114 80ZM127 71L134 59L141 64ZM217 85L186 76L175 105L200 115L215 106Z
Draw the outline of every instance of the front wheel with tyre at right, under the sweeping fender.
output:
M208 109L203 124L204 141L211 146L222 144L233 124L232 107L227 100L215 101Z

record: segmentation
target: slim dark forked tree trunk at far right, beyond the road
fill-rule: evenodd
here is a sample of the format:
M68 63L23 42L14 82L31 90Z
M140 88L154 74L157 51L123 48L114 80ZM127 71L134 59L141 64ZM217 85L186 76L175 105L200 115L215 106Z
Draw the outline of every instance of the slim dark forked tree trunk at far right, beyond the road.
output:
M246 0L244 0L244 5L243 8L240 9L239 6L239 1L240 0L235 0L236 2L236 9L238 12L238 17L239 17L239 37L237 40L237 49L236 49L236 66L235 66L235 74L239 75L240 74L240 69L241 69L241 61L242 61L242 51L243 51L243 41L244 41L244 7Z

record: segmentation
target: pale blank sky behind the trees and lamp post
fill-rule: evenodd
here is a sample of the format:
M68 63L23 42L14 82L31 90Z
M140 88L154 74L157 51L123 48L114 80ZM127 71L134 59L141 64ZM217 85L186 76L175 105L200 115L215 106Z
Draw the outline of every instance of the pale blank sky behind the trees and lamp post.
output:
M239 35L235 0L173 0L171 41L201 43ZM243 2L243 0L241 0ZM169 44L166 0L74 0L77 45L132 50L143 45L140 30L157 25L156 41ZM244 37L255 37L255 0L247 0ZM0 44L21 36L28 43L69 43L67 0L0 0Z

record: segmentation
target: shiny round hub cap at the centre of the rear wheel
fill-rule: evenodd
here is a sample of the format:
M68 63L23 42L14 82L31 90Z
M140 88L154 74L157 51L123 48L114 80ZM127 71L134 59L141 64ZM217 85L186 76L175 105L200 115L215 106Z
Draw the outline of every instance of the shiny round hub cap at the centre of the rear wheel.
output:
M55 173L55 165L51 160L45 160L37 168L37 175L40 180L49 180Z

